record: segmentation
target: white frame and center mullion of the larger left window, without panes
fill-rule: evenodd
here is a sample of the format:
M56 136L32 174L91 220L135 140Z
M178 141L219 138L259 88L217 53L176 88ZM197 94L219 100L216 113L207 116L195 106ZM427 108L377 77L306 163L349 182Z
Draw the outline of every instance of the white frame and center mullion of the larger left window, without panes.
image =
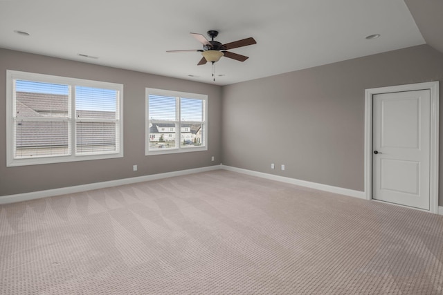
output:
M15 80L28 80L33 82L65 84L71 88L71 99L69 101L69 155L48 155L39 158L14 158L15 151ZM75 149L75 86L86 86L93 88L105 88L119 91L118 99L118 119L119 138L117 151L104 151L103 153L94 153L87 155L76 155ZM51 164L61 162L76 162L86 160L100 160L109 158L123 158L123 84L100 82L86 79L76 79L69 77L60 77L53 75L44 75L38 73L21 72L18 70L6 70L6 166L26 166L35 164Z

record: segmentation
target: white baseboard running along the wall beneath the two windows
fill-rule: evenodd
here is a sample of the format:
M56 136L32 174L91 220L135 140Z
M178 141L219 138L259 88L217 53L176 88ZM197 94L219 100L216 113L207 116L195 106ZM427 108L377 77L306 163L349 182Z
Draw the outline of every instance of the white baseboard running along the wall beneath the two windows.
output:
M136 183L136 182L144 182L144 181L150 181L150 180L159 180L159 179L163 179L163 178L170 178L170 177L174 177L174 176L187 175L187 174L192 174L192 173L213 171L213 170L218 170L218 169L220 169L220 165L208 166L208 167L202 167L202 168L196 168L196 169L181 170L181 171L166 172L166 173L159 173L159 174L153 174L153 175L138 176L135 178L123 178L123 179L119 179L119 180L110 180L110 181L105 181L105 182L82 184L82 185L76 185L74 187L61 187L60 189L48 189L46 191L33 191L30 193L17 193L15 195L0 196L0 204L9 204L9 203L14 203L14 202L22 202L22 201L27 201L27 200L39 199L39 198L60 196L60 195L66 195L67 193L80 193L82 191L91 191L93 189L105 189L107 187L116 187L118 185L132 184L132 183Z

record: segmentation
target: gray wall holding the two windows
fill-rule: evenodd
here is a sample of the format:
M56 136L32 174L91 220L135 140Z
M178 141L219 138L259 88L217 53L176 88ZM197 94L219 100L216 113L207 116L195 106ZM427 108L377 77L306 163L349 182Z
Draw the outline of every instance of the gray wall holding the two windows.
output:
M124 85L124 158L6 167L6 70ZM208 95L208 151L145 156L145 87ZM0 48L0 196L219 164L221 87ZM211 162L211 156L215 162ZM132 171L132 165L138 171Z

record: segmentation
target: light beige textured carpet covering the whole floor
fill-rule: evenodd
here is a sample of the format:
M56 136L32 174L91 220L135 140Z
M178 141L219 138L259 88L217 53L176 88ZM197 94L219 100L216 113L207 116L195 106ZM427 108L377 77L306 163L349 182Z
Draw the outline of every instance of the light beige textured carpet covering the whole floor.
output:
M443 294L443 216L228 171L0 207L1 294Z

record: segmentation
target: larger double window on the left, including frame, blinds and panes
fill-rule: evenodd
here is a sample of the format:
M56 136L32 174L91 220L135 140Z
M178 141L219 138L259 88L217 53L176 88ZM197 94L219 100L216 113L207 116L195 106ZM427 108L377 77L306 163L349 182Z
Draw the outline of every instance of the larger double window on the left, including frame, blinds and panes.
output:
M123 157L123 85L7 75L8 166Z

